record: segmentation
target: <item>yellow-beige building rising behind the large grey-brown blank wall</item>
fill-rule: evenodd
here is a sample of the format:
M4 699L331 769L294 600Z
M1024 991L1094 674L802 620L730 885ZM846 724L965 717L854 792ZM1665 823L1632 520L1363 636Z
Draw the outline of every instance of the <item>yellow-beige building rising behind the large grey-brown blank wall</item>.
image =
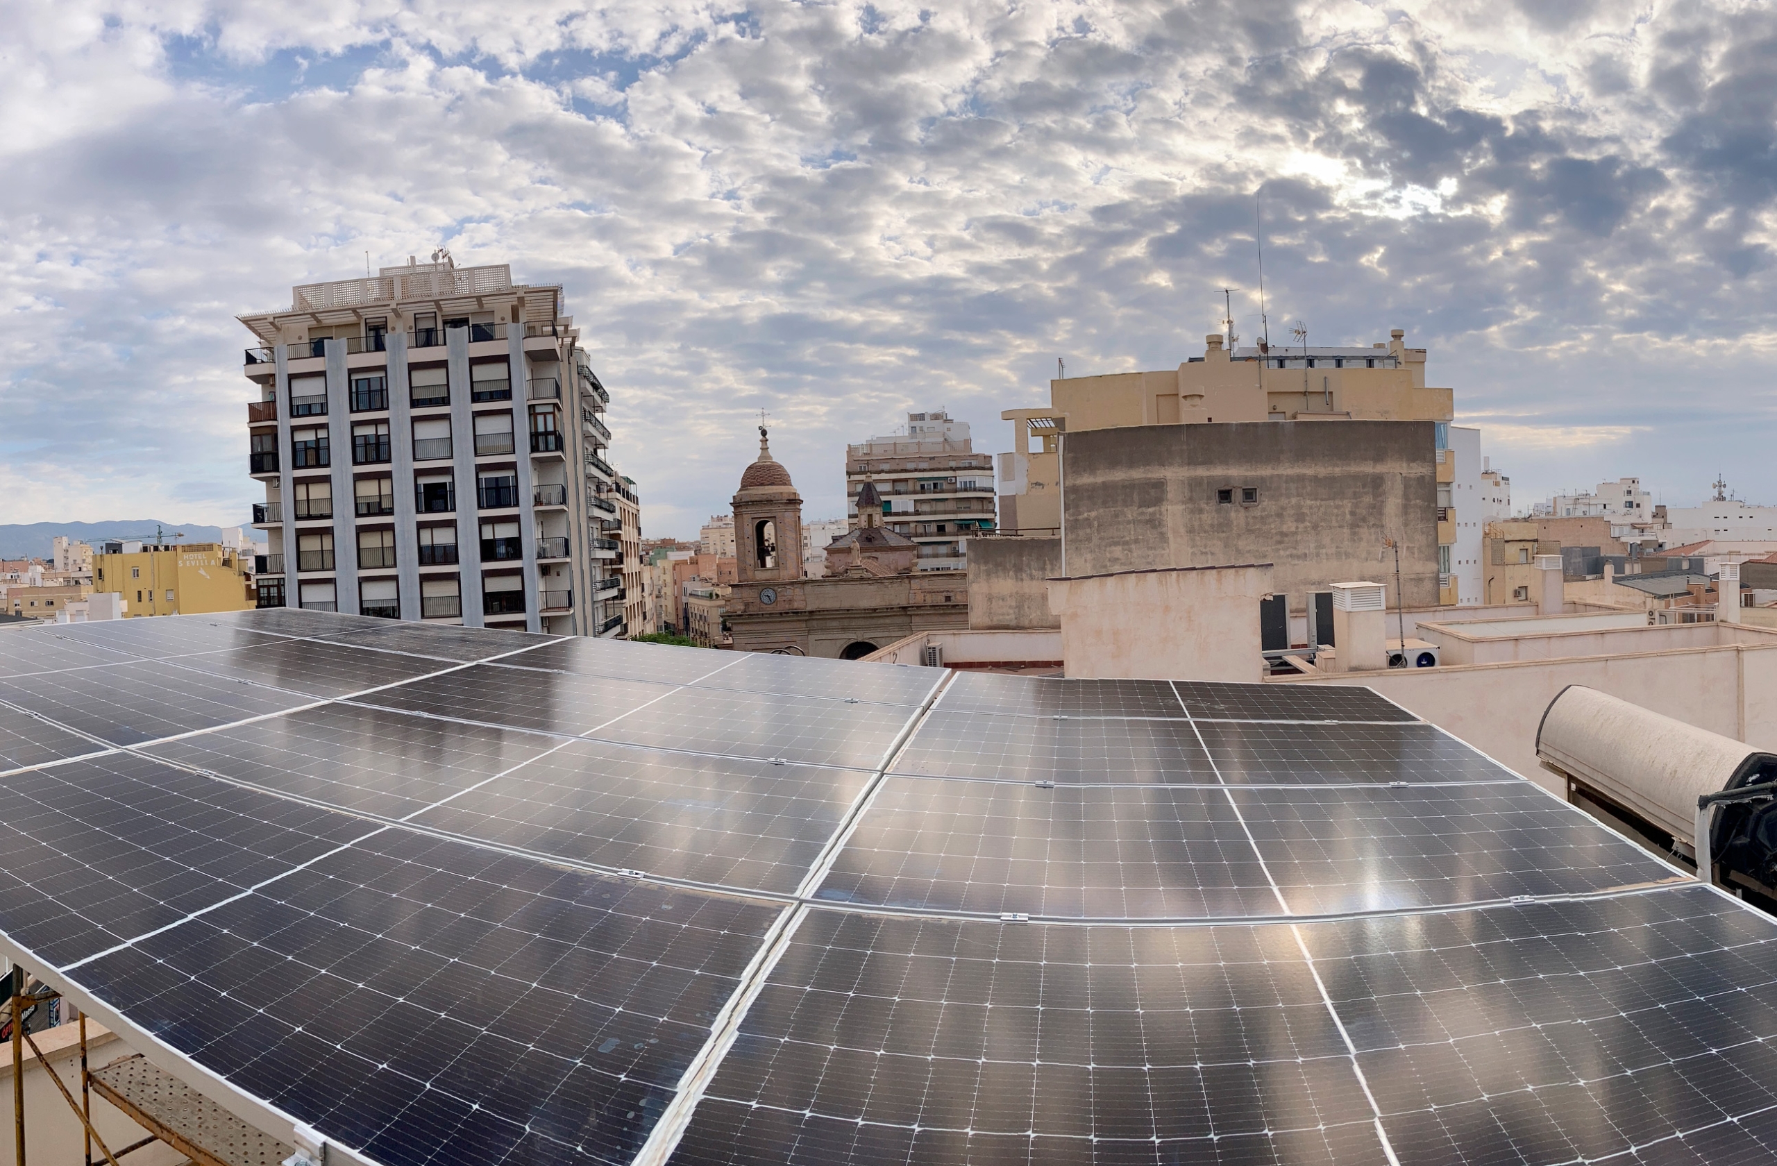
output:
M1455 395L1425 384L1425 348L1409 348L1402 329L1391 329L1388 343L1368 348L1231 348L1226 339L1205 336L1203 355L1176 370L1056 379L1048 382L1048 409L1002 412L1013 423L1013 450L999 464L1002 530L1059 535L1063 434L1235 421L1432 421L1425 457L1436 462L1438 601L1471 601L1462 595L1457 567L1480 558L1484 526L1461 526L1477 517L1464 514L1464 507L1480 505L1478 446L1473 457L1466 446L1464 457L1452 450ZM1031 448L1032 439L1038 450ZM1466 471L1462 482L1457 482L1459 460ZM1468 535L1461 546L1459 531ZM1292 610L1303 603L1290 597Z

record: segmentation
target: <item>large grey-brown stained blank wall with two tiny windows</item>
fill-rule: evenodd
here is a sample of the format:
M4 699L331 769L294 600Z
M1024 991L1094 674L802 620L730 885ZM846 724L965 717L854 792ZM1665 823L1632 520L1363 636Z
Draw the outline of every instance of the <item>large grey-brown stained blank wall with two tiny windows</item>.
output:
M1272 563L1272 587L1388 585L1400 540L1407 606L1438 603L1438 464L1430 421L1144 425L1064 437L1066 571ZM1231 489L1233 503L1217 491ZM1242 503L1256 489L1255 503ZM979 544L977 544L979 546ZM970 547L970 558L974 547Z

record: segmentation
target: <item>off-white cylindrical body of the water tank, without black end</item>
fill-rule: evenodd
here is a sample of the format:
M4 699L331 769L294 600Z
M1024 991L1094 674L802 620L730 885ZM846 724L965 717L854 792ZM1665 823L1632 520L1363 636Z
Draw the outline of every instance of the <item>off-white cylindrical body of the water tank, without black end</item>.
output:
M1564 688L1542 713L1537 757L1683 843L1701 795L1734 789L1777 764L1741 741L1580 684Z

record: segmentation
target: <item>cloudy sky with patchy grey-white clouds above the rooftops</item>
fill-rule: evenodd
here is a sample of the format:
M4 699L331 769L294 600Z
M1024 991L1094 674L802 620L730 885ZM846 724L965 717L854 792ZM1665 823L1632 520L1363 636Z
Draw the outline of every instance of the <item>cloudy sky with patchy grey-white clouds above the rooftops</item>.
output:
M1519 501L1777 503L1768 4L0 2L0 521L240 523L238 313L444 244L567 288L647 535L757 411L977 448L1169 368L1219 286L1390 327ZM1256 302L1237 297L1237 331Z

